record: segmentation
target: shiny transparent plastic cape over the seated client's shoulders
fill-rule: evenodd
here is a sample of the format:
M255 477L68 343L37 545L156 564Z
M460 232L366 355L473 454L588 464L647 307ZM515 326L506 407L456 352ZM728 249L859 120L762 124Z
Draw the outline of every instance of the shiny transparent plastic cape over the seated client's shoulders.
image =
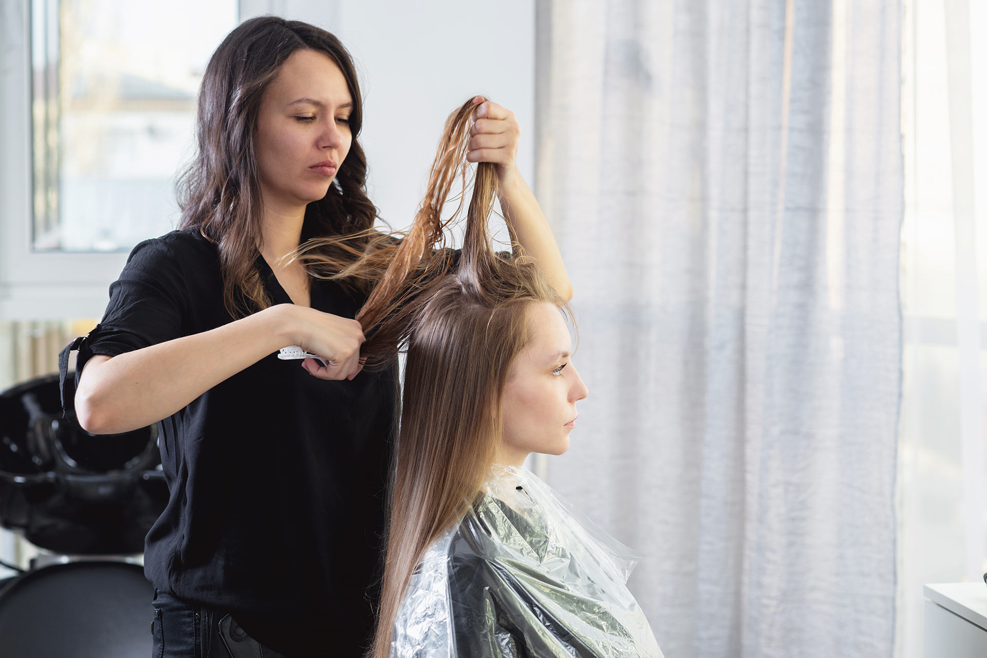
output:
M661 658L627 589L639 560L530 471L494 465L412 575L391 658Z

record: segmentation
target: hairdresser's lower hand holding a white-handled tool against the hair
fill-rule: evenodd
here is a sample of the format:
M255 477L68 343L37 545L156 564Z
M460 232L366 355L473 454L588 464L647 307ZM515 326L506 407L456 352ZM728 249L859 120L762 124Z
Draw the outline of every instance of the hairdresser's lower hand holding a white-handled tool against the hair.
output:
M366 340L355 320L306 306L285 305L291 317L291 344L318 354L326 365L304 359L302 367L319 379L351 380L363 369L360 345Z

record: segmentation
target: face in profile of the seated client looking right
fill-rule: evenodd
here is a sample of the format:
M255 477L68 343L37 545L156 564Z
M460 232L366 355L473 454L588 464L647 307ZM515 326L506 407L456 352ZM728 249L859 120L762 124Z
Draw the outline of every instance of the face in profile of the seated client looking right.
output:
M569 450L575 402L588 393L569 357L572 341L562 314L541 302L528 308L531 342L511 364L504 385L503 437L497 461L520 466L529 453Z

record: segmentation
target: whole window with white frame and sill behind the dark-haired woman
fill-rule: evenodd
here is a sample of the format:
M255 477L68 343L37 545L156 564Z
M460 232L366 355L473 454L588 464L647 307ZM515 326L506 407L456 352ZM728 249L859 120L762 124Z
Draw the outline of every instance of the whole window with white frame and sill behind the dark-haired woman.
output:
M266 0L0 3L0 319L99 318L174 228L208 57Z

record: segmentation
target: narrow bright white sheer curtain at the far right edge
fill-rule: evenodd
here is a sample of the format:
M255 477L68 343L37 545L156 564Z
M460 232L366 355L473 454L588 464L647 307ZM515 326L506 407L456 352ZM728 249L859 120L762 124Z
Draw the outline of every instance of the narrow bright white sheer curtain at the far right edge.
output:
M896 655L919 658L923 584L987 571L987 6L905 5Z

